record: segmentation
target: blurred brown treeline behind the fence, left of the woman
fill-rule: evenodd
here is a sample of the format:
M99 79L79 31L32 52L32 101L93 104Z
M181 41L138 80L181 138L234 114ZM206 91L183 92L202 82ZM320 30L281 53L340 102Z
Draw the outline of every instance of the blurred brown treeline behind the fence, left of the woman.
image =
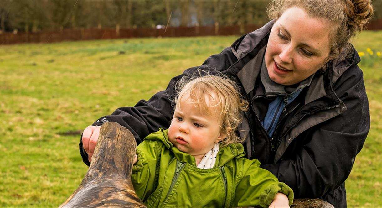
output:
M269 0L0 0L0 30L262 25Z

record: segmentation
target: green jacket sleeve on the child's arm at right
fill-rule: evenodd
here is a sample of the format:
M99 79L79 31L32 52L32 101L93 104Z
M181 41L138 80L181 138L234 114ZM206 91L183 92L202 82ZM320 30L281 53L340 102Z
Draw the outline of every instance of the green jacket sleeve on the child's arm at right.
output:
M257 159L245 159L244 174L235 190L234 207L261 206L268 207L281 192L289 199L289 206L293 203L293 191L285 183L278 182L269 171L262 169Z

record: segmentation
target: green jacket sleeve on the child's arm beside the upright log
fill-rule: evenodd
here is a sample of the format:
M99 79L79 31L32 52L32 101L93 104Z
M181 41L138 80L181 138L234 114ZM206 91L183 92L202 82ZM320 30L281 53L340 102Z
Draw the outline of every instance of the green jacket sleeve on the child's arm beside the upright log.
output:
M136 154L138 161L133 166L131 174L131 182L133 182L134 190L142 201L155 191L155 180L158 177L156 170L157 163L160 161L160 153L163 144L159 141L144 140L138 145Z

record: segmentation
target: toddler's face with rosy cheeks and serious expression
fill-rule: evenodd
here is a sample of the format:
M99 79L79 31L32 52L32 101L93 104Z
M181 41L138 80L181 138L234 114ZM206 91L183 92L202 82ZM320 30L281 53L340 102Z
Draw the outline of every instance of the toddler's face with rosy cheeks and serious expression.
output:
M221 133L220 122L218 115L202 114L185 94L175 107L168 138L180 151L200 157L226 137Z

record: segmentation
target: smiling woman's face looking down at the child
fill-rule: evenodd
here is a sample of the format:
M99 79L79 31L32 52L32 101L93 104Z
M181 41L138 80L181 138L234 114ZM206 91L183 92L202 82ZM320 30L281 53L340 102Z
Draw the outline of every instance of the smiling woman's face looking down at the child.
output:
M297 6L285 10L270 31L265 51L270 79L294 85L317 72L329 56L330 32L329 22Z

